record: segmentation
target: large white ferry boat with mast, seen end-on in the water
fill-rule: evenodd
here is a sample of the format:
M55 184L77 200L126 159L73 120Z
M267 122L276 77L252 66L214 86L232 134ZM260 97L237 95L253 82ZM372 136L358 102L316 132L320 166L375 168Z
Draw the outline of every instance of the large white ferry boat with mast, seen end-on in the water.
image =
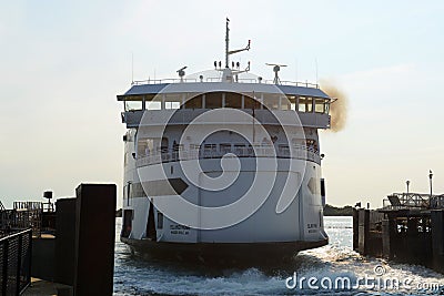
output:
M123 223L134 252L178 259L287 258L326 245L317 131L332 99L225 61L175 80L132 82L123 102Z

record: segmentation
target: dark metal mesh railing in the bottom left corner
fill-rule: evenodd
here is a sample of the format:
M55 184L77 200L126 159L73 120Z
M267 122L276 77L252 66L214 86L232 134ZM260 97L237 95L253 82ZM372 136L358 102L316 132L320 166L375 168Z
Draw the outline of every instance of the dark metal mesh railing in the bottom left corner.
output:
M0 238L1 295L20 295L31 283L32 231Z

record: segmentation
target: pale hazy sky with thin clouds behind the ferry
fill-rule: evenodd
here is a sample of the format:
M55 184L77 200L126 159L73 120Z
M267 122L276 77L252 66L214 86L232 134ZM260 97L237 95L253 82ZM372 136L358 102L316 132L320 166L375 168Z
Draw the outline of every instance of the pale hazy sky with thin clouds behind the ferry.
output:
M0 0L0 198L74 196L115 183L124 125L117 94L236 57L265 79L326 80L347 96L341 132L322 132L327 203L372 207L392 192L444 193L443 1ZM133 67L132 67L133 57ZM317 67L316 67L317 64ZM317 69L317 70L316 70ZM121 203L119 201L119 203Z

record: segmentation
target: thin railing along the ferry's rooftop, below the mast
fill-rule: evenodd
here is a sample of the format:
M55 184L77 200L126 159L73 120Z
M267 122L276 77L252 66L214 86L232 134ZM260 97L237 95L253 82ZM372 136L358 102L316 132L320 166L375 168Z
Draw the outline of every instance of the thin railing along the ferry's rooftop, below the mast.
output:
M190 82L221 82L220 76L210 76L206 78L204 81L194 79L194 78L186 78L186 79L175 79L175 78L168 78L168 79L147 79L147 80L135 80L131 82L131 85L145 85L145 84L164 84L164 83L190 83ZM261 80L254 78L242 78L235 80L235 83L263 83L263 84L275 84L274 80ZM307 82L307 81L280 81L280 85L291 85L291 86L301 86L301 88L313 88L319 89L319 83Z

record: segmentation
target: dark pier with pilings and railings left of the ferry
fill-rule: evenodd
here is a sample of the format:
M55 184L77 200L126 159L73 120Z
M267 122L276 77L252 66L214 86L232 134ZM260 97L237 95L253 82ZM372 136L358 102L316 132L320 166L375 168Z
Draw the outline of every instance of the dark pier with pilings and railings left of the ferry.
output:
M112 295L115 196L114 184L81 184L56 210L50 192L0 204L1 295Z

